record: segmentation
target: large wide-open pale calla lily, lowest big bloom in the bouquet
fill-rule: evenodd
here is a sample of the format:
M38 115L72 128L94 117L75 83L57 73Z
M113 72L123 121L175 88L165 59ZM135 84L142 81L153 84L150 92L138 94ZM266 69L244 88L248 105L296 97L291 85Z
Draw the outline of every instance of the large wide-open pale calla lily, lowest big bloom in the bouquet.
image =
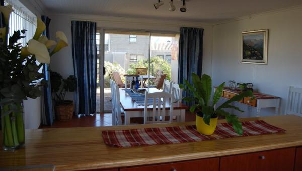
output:
M34 39L31 39L28 41L27 50L31 54L34 54L36 59L40 63L43 63L43 64L50 63L49 52L44 44L42 44Z

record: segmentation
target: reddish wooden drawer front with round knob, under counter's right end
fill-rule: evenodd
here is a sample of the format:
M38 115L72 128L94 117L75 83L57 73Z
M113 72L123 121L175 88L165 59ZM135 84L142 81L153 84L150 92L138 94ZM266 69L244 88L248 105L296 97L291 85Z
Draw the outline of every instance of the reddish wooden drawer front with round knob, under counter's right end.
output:
M295 148L221 157L220 171L292 171L294 169L294 158Z

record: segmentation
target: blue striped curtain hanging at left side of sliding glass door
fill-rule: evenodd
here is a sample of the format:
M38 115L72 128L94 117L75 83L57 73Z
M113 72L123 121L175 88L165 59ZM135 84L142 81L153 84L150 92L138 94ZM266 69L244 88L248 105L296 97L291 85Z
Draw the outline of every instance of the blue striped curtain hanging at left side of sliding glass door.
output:
M75 114L95 114L97 94L97 27L95 22L71 21L72 57L78 88Z

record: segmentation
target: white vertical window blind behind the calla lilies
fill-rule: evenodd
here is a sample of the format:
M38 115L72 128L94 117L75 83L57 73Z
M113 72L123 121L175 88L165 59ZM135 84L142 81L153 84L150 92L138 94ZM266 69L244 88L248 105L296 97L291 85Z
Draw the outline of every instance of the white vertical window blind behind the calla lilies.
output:
M17 0L5 0L4 5L12 5L14 12L10 16L9 24L9 35L12 36L14 31L25 29L25 38L20 40L22 46L25 46L26 43L33 38L36 27L37 27L37 18L29 9L27 9L21 2Z

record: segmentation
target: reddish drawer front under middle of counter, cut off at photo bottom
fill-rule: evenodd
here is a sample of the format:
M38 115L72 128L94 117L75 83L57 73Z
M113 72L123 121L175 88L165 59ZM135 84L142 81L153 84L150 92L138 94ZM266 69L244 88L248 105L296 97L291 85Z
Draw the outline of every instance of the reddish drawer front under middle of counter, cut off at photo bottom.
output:
M168 164L121 168L120 171L218 171L219 158L184 161Z

